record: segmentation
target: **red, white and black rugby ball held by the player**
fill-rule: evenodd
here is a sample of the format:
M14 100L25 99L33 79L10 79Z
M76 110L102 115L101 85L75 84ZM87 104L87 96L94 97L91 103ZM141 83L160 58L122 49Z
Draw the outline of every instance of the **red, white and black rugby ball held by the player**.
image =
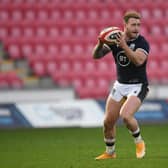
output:
M99 34L99 39L106 44L116 44L116 35L122 33L119 27L108 27Z

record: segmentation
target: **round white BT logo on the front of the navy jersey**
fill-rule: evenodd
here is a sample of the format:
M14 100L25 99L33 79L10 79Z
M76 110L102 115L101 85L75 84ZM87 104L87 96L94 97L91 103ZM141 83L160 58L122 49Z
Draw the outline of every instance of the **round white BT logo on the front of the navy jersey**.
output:
M117 62L119 63L120 66L128 66L130 64L130 60L128 57L125 55L124 51L120 51L117 53Z

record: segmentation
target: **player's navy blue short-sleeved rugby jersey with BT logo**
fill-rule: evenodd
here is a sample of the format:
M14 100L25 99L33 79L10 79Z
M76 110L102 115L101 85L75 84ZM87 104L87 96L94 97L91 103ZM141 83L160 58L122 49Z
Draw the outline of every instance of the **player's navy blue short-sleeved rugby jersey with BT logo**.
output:
M148 55L149 54L149 43L146 39L139 35L136 39L127 41L127 45L133 51L136 49L142 49L142 51ZM116 45L109 46L112 50L113 57L117 68L117 80L120 83L135 84L144 83L148 84L147 74L146 74L146 63L147 60L140 66L136 66L132 63L124 53L124 50Z

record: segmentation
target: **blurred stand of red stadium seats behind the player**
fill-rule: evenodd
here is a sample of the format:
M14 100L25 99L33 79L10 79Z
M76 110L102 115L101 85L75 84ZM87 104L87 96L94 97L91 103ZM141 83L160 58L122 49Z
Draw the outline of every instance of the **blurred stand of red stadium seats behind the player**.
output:
M115 65L110 55L93 61L91 51L101 29L121 27L128 9L143 17L142 34L151 44L150 82L166 83L167 7L163 0L1 0L0 39L8 53L1 65L12 67L1 67L0 87L24 88L32 80L36 86L48 78L54 86L73 87L79 98L104 98Z

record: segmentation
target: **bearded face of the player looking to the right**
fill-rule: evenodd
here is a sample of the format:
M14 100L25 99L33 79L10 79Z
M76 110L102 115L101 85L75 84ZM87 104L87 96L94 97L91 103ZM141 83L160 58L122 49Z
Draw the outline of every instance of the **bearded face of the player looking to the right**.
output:
M127 23L125 23L125 33L129 39L136 38L140 31L140 19L130 18Z

